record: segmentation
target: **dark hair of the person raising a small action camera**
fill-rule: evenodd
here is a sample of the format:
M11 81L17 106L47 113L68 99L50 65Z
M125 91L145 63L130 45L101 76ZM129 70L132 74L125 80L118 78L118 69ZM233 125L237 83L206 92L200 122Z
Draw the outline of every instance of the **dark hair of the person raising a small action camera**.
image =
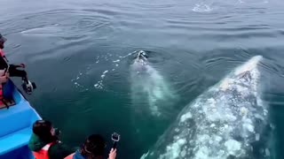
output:
M83 143L81 154L88 159L102 157L105 154L106 141L99 134L92 134Z

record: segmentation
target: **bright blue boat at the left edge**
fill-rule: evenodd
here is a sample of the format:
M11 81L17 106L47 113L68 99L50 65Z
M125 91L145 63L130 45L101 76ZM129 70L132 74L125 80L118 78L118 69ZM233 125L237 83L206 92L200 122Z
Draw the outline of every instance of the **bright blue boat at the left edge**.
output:
M12 105L0 109L0 159L35 159L28 148L32 125L41 119L11 79L4 92L12 96Z

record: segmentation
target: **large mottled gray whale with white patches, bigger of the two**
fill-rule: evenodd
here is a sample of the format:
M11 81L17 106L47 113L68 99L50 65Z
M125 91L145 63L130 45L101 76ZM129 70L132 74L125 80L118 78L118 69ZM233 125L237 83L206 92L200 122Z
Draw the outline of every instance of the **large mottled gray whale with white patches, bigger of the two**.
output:
M141 158L253 158L253 144L262 138L268 119L257 69L262 59L252 57L188 104ZM268 148L263 152L263 158L270 154Z

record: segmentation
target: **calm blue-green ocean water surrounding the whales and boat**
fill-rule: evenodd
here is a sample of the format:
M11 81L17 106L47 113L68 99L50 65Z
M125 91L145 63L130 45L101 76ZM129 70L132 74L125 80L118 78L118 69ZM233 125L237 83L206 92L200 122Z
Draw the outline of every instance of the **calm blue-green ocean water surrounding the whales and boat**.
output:
M139 158L185 105L261 55L269 153L284 158L284 2L10 0L1 6L7 57L27 64L38 87L28 99L71 147L91 133L110 147L117 132L118 158ZM148 55L147 72L134 64L138 50Z

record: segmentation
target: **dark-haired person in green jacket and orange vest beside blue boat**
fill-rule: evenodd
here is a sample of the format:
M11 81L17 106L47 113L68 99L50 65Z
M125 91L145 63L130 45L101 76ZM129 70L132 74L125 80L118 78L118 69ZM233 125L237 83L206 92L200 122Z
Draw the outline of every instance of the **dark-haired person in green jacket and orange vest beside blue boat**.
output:
M59 140L59 131L50 121L37 120L33 125L33 134L28 142L36 159L63 159L74 152Z

